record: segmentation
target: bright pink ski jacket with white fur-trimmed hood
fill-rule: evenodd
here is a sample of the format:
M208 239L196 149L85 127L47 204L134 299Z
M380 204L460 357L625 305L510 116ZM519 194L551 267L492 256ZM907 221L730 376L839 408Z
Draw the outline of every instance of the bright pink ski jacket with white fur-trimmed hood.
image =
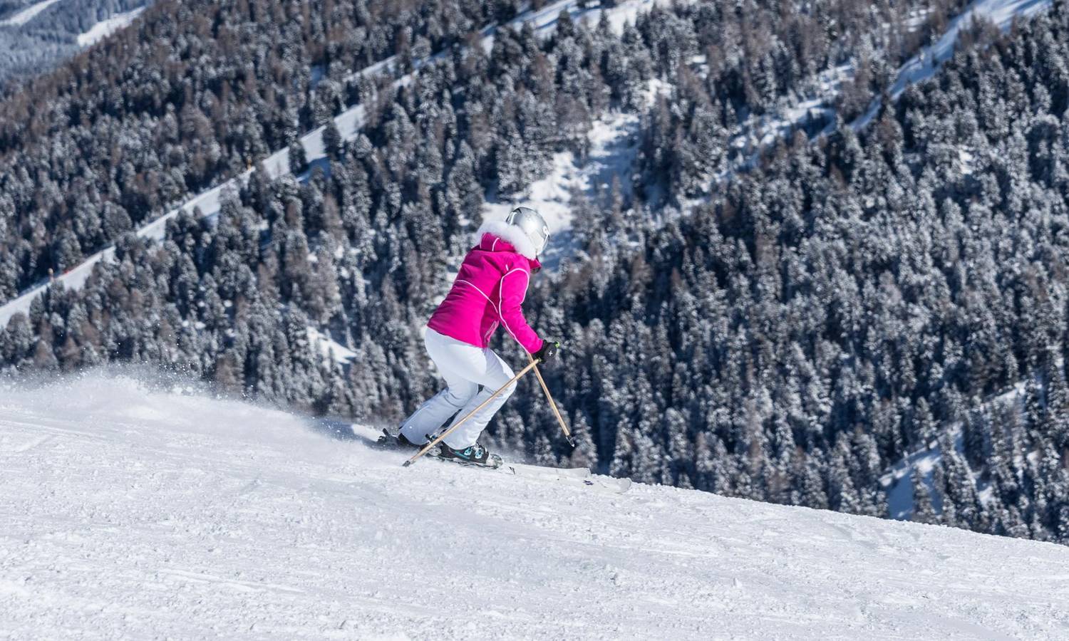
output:
M483 223L479 245L464 256L461 270L427 326L477 347L490 344L498 325L533 354L542 339L527 325L520 309L527 296L531 271L542 265L524 233L506 222Z

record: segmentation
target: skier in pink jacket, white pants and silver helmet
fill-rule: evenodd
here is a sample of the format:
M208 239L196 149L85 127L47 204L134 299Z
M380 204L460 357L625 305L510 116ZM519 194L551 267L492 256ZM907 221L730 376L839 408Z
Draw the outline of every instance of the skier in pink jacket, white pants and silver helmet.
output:
M450 425L455 424L513 377L512 369L487 347L498 325L503 325L536 360L553 358L560 347L559 343L539 338L527 325L520 307L527 295L530 275L542 268L538 256L549 239L549 228L542 216L530 207L516 207L503 222L484 222L477 237L479 244L464 257L449 294L431 315L423 337L427 353L445 378L446 389L405 419L397 437L401 445L421 448L447 419L455 415ZM449 434L439 443L437 456L493 465L487 463L492 456L479 443L479 435L515 387L514 382L510 385Z

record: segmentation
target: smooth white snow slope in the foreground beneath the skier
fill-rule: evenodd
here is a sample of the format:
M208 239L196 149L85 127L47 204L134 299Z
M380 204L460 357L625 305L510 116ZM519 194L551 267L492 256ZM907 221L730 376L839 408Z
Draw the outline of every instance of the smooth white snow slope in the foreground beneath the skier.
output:
M404 469L135 378L0 387L0 638L1069 637L1069 548Z

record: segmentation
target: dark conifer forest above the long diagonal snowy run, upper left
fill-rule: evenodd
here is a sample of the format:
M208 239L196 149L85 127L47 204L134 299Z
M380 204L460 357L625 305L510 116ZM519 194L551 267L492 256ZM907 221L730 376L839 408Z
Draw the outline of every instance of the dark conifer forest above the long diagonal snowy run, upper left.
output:
M158 3L0 103L0 299L284 148L373 91L354 71L448 48L497 2Z

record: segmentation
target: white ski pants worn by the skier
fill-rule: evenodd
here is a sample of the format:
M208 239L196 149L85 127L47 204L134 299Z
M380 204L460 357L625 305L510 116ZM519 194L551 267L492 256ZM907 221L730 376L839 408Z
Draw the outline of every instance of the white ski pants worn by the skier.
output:
M514 376L512 369L490 347L476 347L431 328L423 334L423 343L447 387L420 405L401 425L401 433L414 443L427 442L427 436L433 436L454 413L456 417L450 426L455 424ZM481 392L479 386L482 386ZM515 389L513 382L444 442L454 450L474 445Z

